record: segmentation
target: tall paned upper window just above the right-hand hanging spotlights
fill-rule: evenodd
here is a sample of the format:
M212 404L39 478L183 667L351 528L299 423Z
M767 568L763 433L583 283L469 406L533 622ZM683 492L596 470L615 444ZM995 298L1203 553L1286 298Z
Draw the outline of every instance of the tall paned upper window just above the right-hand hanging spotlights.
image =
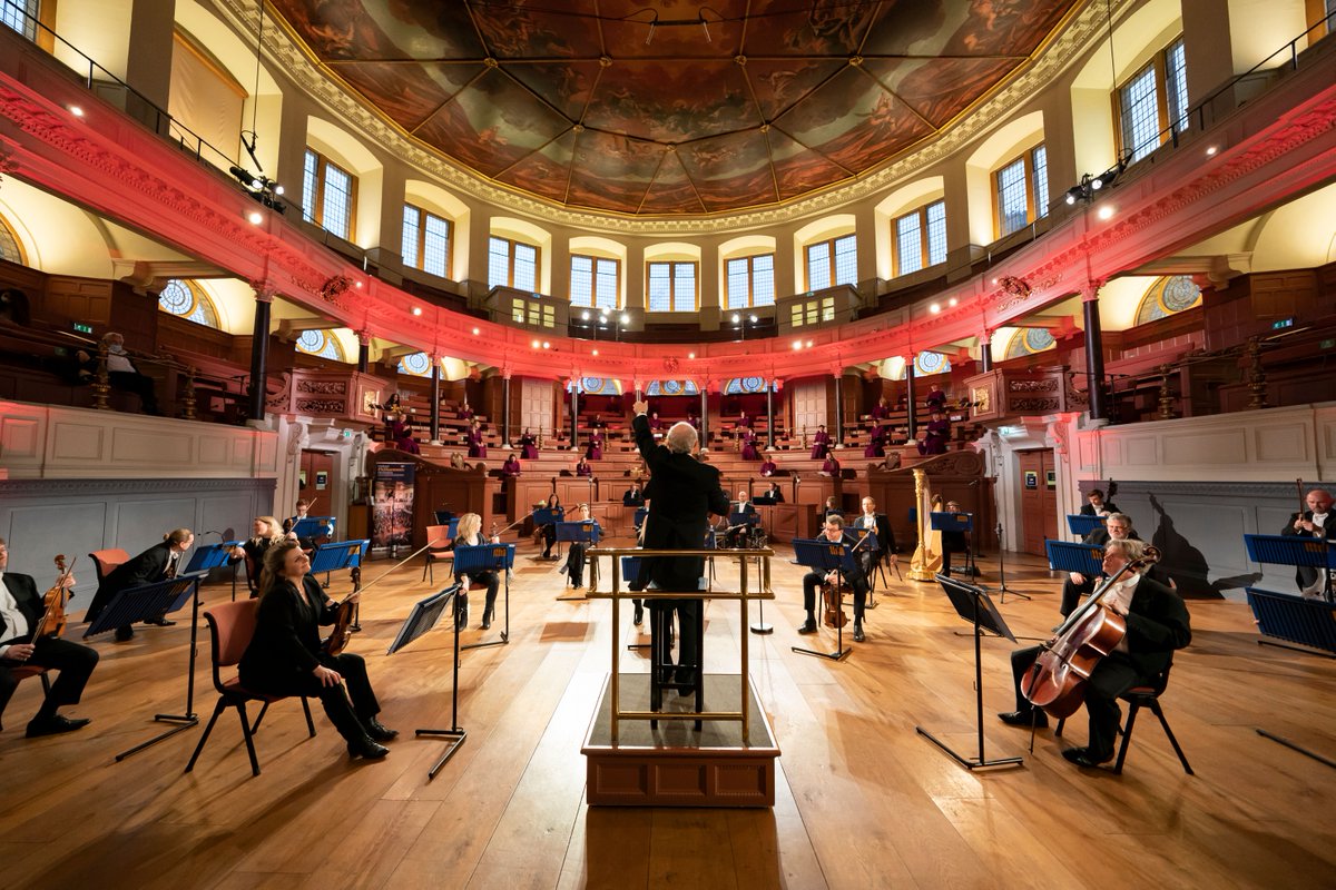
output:
M1188 128L1188 68L1178 37L1118 88L1118 148L1137 161Z

